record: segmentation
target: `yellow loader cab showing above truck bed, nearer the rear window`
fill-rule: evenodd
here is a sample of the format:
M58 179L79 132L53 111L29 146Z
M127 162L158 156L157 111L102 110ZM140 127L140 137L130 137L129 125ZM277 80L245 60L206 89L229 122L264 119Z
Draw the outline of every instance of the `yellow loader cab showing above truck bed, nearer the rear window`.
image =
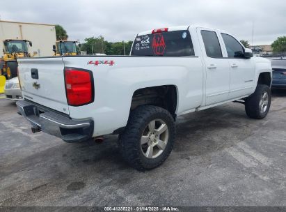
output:
M78 55L80 52L77 51L77 47L81 47L79 40L58 40L56 45L53 45L54 56L63 55Z

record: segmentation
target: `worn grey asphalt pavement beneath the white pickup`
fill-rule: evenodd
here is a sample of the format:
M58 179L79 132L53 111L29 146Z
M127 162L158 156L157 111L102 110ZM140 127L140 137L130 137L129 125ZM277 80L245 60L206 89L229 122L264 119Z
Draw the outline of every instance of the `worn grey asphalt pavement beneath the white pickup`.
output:
M33 134L0 98L0 206L286 206L286 91L263 120L239 103L179 117L173 152L148 172L116 142Z

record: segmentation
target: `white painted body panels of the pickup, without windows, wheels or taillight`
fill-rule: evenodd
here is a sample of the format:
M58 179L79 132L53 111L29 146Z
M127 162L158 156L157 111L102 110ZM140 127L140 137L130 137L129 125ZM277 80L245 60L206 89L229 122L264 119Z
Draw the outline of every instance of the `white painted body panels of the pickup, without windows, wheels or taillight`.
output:
M175 114L180 116L246 98L255 91L260 73L267 73L271 77L271 63L267 59L228 57L221 33L229 33L196 26L168 28L168 32L180 30L189 31L194 55L19 59L22 95L25 100L66 114L69 119L91 119L94 123L92 137L97 137L111 134L127 125L132 97L138 89L175 86ZM220 58L207 56L201 31L216 34L221 47ZM152 31L138 33L137 36L143 35L152 35ZM93 73L93 103L79 107L68 105L65 67L82 68ZM38 79L31 78L32 68L38 69ZM33 87L34 82L40 84L40 89Z

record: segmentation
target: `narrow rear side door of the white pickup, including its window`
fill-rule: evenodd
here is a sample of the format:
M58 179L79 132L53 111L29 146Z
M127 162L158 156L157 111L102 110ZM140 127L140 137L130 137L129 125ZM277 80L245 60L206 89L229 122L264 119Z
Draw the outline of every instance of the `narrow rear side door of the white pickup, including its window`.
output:
M223 59L223 51L217 31L198 28L198 38L206 66L206 105L228 100L230 91L230 67Z

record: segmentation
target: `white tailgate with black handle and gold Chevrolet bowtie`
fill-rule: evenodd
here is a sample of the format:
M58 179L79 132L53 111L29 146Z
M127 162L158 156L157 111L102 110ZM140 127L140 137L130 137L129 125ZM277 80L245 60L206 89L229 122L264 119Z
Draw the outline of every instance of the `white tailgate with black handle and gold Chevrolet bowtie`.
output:
M62 57L19 59L23 98L69 114Z

